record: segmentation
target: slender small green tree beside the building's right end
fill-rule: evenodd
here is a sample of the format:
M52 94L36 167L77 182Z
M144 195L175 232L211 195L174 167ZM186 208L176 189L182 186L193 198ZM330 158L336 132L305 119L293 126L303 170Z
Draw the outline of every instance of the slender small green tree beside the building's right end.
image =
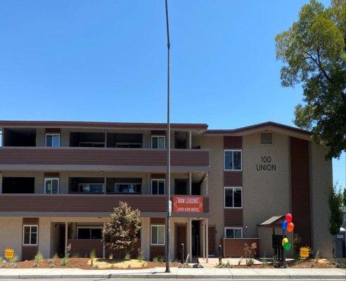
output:
M334 185L331 188L328 196L329 205L329 233L333 235L333 256L335 253L335 235L340 232L340 227L342 225L342 193L338 192L337 186Z

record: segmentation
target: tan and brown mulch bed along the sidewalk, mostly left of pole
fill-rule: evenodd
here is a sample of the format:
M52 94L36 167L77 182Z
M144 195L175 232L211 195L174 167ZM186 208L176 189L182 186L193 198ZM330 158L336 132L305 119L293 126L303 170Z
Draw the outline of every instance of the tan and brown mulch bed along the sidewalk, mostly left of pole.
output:
M62 259L43 259L38 266L34 261L18 261L16 263L0 262L0 268L80 268L80 269L144 269L165 267L165 263L154 263L153 261L117 261L109 259L94 259L93 266L88 258L70 258L68 264L63 266ZM172 262L172 267L178 267L180 263Z

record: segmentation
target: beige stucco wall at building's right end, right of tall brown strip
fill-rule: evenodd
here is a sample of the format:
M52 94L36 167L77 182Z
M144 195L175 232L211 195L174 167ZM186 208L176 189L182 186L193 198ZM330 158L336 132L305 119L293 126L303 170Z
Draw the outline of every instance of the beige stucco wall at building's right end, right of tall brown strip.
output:
M328 190L333 185L332 162L326 161L321 145L310 143L310 191L312 211L312 247L321 256L332 257L333 237L328 231Z

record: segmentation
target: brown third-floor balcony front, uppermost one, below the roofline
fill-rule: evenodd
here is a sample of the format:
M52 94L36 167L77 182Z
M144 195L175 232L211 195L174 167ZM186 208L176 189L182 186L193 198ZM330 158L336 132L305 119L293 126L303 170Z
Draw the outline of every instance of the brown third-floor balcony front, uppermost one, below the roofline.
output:
M0 169L11 171L166 171L167 151L148 148L0 148ZM172 172L209 171L209 150L173 149Z

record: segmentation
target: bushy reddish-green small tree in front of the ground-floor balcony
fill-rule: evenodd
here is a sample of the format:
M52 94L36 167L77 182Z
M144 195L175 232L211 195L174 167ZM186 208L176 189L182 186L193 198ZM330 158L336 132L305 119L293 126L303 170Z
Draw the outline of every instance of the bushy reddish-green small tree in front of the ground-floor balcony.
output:
M127 202L120 202L110 214L110 221L103 228L103 242L113 250L131 251L137 241L137 233L141 228L139 216L141 211L132 210Z

